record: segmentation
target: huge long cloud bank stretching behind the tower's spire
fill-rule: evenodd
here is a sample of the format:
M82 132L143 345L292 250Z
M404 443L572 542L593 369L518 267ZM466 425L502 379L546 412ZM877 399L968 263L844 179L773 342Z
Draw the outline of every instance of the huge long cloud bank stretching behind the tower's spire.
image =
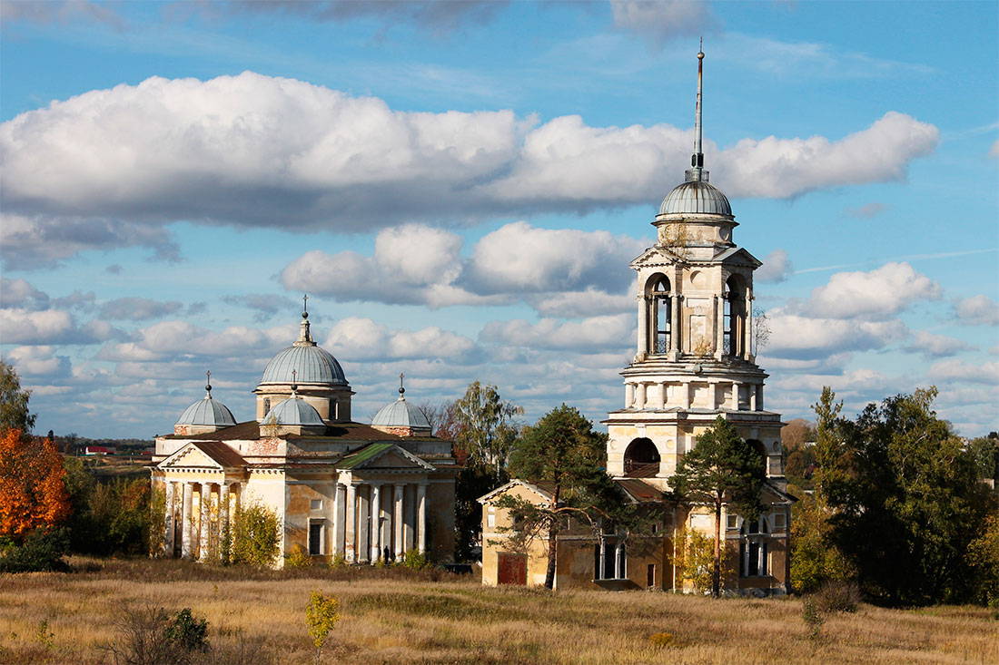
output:
M786 198L899 180L938 134L888 113L839 141L769 137L705 152L729 196ZM647 204L664 194L661 174L686 162L690 137L668 125L589 127L578 116L400 112L252 72L154 77L0 125L3 256L30 267L145 246L176 258L162 225L178 220L369 231Z

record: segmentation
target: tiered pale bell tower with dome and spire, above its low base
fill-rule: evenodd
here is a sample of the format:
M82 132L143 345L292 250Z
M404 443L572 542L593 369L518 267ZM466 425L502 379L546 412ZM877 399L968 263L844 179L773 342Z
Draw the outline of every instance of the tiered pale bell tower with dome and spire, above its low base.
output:
M638 334L621 371L624 406L607 424L607 471L666 489L697 435L721 415L765 457L783 489L780 415L763 408L767 374L755 363L753 271L737 247L728 199L708 182L701 149L704 54L697 54L693 155L685 182L659 207L656 243L631 262Z

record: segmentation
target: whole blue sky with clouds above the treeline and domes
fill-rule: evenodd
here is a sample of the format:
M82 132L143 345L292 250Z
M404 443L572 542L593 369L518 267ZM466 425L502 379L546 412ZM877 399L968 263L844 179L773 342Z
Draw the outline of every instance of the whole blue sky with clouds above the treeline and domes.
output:
M0 352L37 428L253 414L310 295L364 418L474 379L620 407L689 159L764 262L766 404L999 428L994 2L10 2Z

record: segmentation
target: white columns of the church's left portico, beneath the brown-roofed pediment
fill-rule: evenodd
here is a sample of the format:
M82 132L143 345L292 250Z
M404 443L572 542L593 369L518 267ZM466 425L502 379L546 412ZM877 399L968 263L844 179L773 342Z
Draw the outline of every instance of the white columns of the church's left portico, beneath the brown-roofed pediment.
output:
M197 487L197 489L196 489ZM194 494L199 493L198 513L194 511ZM215 499L213 500L213 496ZM163 552L173 556L177 547L175 524L177 501L181 502L181 557L185 559L206 559L210 555L218 555L222 543L228 539L234 525L235 507L231 511L232 498L239 502L239 483L237 482L196 482L194 480L166 481L166 509L163 524ZM213 510L213 507L215 508ZM217 519L213 515L217 514ZM216 547L213 548L213 521L216 524L214 535L217 536Z

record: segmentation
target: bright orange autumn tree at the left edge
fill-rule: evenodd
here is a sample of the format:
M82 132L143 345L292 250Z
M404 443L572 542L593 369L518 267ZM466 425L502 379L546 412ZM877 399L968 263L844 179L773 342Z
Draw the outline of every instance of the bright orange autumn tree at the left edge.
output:
M55 444L28 438L20 429L0 436L0 539L20 542L35 527L58 524L69 515L66 469Z

